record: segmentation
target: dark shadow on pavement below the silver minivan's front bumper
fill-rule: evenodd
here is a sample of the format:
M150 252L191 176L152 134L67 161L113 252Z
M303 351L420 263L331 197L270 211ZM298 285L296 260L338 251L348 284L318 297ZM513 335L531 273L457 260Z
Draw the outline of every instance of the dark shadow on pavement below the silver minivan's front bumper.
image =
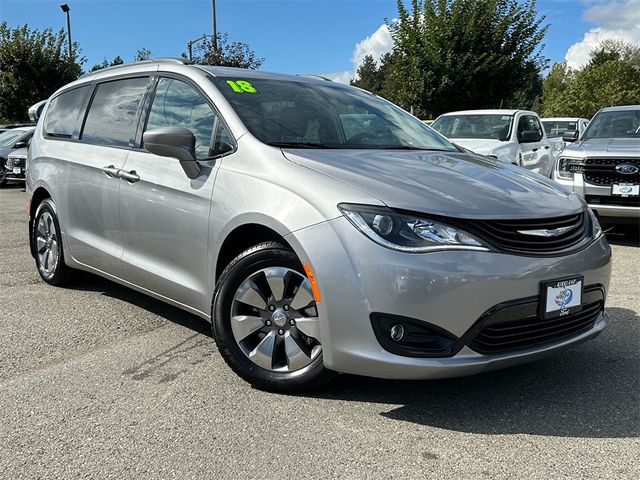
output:
M392 406L382 416L457 432L640 436L640 317L608 309L597 339L536 363L432 381L341 375L310 396Z

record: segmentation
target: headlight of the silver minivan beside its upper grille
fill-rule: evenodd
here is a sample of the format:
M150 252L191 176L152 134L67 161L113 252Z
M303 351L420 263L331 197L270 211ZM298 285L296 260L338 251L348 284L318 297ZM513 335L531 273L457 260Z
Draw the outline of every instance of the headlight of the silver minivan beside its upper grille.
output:
M394 212L386 207L340 204L338 208L378 245L400 252L490 250L477 237L440 220Z

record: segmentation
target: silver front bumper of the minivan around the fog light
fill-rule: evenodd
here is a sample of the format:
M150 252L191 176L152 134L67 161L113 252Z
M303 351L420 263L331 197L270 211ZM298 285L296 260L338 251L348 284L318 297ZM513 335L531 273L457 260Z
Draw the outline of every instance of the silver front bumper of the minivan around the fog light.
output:
M396 379L471 375L532 361L588 340L593 326L543 346L483 355L464 346L450 357L414 358L385 350L370 321L382 312L428 322L461 338L487 310L537 296L540 282L574 275L584 285L609 287L611 249L604 238L565 257L524 257L493 252L446 251L407 254L383 248L344 218L287 236L314 271L325 366L344 373Z

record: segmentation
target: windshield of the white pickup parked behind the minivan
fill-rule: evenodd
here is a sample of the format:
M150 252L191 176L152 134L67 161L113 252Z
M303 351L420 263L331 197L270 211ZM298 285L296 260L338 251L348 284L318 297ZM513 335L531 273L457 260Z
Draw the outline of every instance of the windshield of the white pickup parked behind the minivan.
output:
M438 118L432 128L447 138L482 138L509 140L513 115L446 115Z

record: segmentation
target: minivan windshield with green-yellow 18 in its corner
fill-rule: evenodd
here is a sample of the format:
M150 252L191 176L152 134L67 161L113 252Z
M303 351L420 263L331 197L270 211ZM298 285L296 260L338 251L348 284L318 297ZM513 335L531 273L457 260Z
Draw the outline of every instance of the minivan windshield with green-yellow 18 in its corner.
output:
M276 147L458 151L375 95L333 82L216 77L247 129Z

